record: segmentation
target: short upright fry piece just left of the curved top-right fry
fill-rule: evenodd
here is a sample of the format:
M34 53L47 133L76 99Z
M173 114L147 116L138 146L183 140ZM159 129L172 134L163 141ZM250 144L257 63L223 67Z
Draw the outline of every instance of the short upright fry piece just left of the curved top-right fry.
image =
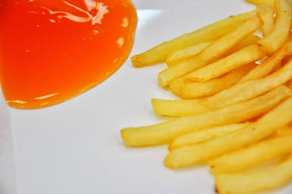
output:
M264 21L264 25L260 28L263 37L269 36L274 29L274 11L270 6L267 5L258 5L256 6L256 13Z

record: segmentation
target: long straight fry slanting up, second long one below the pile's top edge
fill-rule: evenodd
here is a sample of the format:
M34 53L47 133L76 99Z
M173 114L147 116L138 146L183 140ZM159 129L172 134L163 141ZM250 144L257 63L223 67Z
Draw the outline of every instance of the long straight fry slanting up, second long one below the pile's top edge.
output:
M259 16L247 20L236 29L215 40L194 57L183 60L182 62L160 72L158 74L158 82L161 86L166 86L171 80L181 78L207 65L209 62L214 61L216 58L219 58L229 51L238 42L252 35L262 25L263 21Z

